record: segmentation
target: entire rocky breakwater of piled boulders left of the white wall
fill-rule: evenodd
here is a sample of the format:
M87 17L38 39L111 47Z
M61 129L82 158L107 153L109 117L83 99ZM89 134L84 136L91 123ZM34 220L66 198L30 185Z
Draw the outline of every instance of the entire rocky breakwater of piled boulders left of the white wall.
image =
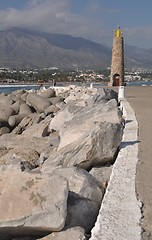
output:
M117 93L0 94L0 239L89 239L123 135Z

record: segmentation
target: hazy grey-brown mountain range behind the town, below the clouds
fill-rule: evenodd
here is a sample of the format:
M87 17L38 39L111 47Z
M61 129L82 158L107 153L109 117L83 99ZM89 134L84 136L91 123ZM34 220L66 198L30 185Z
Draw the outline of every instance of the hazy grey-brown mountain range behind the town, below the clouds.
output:
M112 49L104 44L65 34L20 28L0 31L0 67L104 69ZM151 67L152 49L125 45L126 67Z

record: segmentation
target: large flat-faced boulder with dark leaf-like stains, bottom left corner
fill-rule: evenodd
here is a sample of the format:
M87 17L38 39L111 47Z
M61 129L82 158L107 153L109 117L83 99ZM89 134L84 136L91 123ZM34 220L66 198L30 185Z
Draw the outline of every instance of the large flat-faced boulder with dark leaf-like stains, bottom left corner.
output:
M60 231L67 215L65 178L12 169L0 172L1 236L43 236Z

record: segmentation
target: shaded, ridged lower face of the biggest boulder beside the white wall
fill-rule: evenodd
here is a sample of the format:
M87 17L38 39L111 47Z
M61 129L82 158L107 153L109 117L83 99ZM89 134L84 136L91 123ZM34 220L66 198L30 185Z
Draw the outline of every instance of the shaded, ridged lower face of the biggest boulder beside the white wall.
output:
M52 153L43 164L43 170L56 166L79 166L91 169L114 162L123 135L119 123L97 124L77 141Z

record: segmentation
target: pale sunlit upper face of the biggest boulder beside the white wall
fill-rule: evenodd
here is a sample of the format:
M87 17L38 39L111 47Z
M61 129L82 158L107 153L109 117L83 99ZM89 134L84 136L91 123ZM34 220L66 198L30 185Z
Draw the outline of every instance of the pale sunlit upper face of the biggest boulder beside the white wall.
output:
M121 121L117 102L111 100L96 104L94 107L68 105L52 119L49 129L60 131L60 149L78 140L101 122L120 123Z

